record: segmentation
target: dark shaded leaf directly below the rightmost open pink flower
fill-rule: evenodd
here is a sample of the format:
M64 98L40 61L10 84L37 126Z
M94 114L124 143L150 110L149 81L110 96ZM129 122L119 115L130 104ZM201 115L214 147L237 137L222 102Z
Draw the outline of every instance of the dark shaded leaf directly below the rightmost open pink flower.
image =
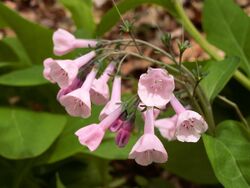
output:
M198 143L167 142L169 159L166 169L199 184L218 183L202 141Z

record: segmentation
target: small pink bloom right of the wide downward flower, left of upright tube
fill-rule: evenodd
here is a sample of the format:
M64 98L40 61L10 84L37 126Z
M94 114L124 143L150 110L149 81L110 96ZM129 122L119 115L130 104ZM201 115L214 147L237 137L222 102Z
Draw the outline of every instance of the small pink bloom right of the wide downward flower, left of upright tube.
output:
M115 64L110 63L100 78L95 79L90 89L91 101L94 104L106 104L109 100L108 80L115 69Z

